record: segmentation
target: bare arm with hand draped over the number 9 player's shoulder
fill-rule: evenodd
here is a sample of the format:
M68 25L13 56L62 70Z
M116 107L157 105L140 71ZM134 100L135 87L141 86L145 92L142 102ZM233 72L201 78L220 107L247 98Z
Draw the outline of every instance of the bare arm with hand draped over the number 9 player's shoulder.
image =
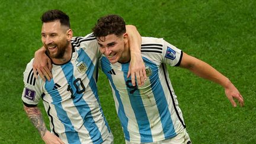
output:
M127 78L132 76L132 85L135 86L135 76L138 85L143 85L146 79L145 65L140 53L140 46L142 44L142 38L137 31L137 28L133 25L126 25L126 33L128 34L128 41L131 53L131 60L129 66L129 72Z

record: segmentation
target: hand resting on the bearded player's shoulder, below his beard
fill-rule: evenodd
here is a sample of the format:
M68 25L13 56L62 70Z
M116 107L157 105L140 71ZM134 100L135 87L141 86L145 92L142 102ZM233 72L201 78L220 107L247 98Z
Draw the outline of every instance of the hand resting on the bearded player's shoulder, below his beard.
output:
M35 52L33 62L33 73L36 78L38 72L43 81L46 81L44 76L46 76L47 80L50 81L50 79L52 78L52 62L50 58L45 54L45 52L46 50L44 49L44 47L41 47L39 50Z

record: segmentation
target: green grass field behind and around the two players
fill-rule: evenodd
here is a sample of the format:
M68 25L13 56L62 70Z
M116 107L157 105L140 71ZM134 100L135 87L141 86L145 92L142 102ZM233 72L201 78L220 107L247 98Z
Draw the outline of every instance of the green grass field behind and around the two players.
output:
M23 71L41 47L41 14L61 9L71 18L75 36L85 36L97 19L119 14L142 36L169 43L226 75L245 99L233 108L223 88L181 68L168 68L193 143L256 142L256 2L215 1L1 1L0 143L43 143L23 110ZM98 89L114 134L124 143L107 78ZM106 86L107 85L107 86ZM43 105L39 106L43 110ZM47 121L46 114L44 119Z

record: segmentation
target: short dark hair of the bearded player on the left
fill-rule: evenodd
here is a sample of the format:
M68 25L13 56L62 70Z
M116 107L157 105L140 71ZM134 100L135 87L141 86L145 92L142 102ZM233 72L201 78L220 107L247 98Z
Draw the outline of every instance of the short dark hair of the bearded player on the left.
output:
M55 20L60 20L61 25L65 25L68 28L71 28L70 22L69 22L69 16L66 15L63 11L60 11L58 9L52 9L49 11L46 11L41 16L42 23L52 22Z

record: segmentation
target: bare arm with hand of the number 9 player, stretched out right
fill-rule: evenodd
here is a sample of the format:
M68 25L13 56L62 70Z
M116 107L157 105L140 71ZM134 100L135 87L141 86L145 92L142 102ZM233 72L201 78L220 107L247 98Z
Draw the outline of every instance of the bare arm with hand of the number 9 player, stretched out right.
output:
M233 98L238 100L241 107L244 106L244 98L232 82L206 62L183 52L183 58L181 59L180 66L181 68L189 69L201 78L209 79L210 81L222 85L222 87L225 88L225 94L233 107L236 107L236 103Z

